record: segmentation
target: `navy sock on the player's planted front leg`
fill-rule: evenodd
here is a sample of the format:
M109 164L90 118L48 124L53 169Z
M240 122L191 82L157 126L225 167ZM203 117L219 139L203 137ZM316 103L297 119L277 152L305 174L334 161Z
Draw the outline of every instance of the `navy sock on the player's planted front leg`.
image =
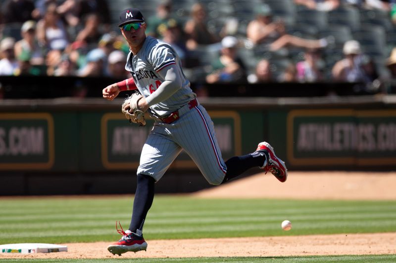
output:
M154 199L155 180L151 176L138 174L137 181L138 185L133 201L132 220L131 225L129 225L129 230L141 235L147 212Z

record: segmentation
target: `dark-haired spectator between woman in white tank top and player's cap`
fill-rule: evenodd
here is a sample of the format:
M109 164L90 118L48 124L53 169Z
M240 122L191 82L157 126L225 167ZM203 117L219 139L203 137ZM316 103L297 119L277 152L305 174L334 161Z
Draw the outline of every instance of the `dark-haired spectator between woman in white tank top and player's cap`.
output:
M84 41L87 44L97 44L102 35L99 32L99 25L100 25L99 16L94 13L88 14L85 17L85 26L78 33L76 40Z

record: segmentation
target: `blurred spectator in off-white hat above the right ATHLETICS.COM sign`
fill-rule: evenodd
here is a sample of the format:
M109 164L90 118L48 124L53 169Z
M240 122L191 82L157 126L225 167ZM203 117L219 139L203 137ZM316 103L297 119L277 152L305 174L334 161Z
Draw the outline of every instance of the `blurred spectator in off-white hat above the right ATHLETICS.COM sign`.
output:
M343 53L345 58L338 61L333 67L332 74L334 79L363 83L363 85L357 85L355 91L372 89L373 81L378 78L378 74L372 60L362 54L360 43L356 40L345 42Z

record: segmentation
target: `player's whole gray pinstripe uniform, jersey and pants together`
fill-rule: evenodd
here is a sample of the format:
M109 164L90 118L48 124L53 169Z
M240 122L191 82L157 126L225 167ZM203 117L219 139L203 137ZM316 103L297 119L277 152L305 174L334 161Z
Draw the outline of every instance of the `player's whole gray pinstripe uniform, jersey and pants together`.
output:
M136 55L129 53L125 69L132 73L142 95L148 97L164 81L158 72L172 64L177 66L175 68L182 77L183 85L168 99L152 105L150 109L162 117L178 111L180 118L170 124L156 119L142 149L137 173L158 181L177 155L185 150L206 180L219 185L227 168L216 141L213 122L202 105L189 108L188 102L196 94L182 72L175 50L161 40L147 37Z

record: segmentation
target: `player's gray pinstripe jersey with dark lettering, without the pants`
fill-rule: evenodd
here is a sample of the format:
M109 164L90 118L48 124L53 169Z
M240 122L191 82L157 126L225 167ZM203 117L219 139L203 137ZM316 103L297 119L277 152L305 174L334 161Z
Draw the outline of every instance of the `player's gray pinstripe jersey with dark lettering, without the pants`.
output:
M196 97L190 88L190 81L182 71L179 56L167 43L147 37L136 55L129 52L125 69L131 72L140 93L148 97L164 81L158 74L166 66L176 64L183 80L182 87L170 98L150 107L157 115L167 116Z

